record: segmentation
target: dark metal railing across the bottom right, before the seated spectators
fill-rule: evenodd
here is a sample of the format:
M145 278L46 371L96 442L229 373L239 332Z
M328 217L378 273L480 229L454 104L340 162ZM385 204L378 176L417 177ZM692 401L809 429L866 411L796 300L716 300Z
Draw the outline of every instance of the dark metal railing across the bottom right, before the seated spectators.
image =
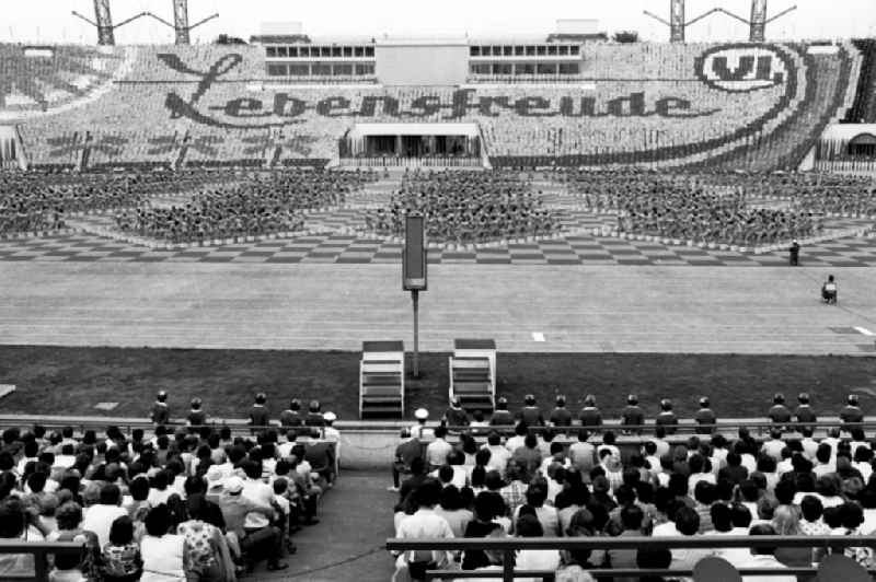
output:
M428 570L427 580L452 578L491 578L499 575L504 582L511 582L515 578L542 578L553 580L554 572L541 570L514 569L514 556L520 549L554 549L554 550L586 550L586 549L723 549L723 548L823 548L828 552L841 550L846 547L876 547L876 536L676 536L676 537L482 537L482 538L454 538L454 539L387 539L387 549L393 552L408 550L499 550L503 552L503 570L498 571L460 571L460 570ZM754 569L741 568L742 575L788 575L815 574L815 567L786 568L786 569ZM693 571L689 569L590 569L596 577L646 577L646 575L673 575L690 577ZM876 569L868 570L871 574Z

